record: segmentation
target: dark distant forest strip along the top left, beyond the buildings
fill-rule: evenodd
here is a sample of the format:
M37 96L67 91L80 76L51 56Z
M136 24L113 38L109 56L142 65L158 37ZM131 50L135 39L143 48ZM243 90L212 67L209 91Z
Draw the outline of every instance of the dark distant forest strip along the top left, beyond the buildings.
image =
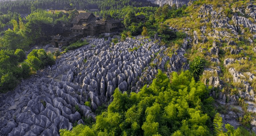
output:
M77 10L114 10L128 5L134 7L157 6L147 0L3 0L0 1L0 12L2 12L1 14L7 14L8 11L27 14L31 12L31 9L61 10L67 6Z

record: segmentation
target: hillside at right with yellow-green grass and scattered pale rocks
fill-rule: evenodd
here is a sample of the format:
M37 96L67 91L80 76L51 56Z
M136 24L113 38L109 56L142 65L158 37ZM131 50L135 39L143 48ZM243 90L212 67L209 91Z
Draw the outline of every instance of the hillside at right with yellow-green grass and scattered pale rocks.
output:
M223 121L235 127L246 124L256 132L256 6L250 1L218 2L196 1L186 9L187 16L164 23L192 38L191 48L183 47L188 60L206 59L200 80L213 87L218 108L225 109L219 111Z

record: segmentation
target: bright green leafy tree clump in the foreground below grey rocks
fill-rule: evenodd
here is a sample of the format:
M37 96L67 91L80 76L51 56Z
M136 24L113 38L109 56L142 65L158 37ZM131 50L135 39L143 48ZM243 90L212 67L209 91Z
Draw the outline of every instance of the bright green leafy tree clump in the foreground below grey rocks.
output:
M171 80L171 82L170 82ZM72 131L60 130L61 136L72 135L212 135L214 100L208 88L195 82L189 71L169 79L162 71L152 84L139 93L114 91L106 112L96 117L92 127L79 125ZM77 131L79 130L79 131Z

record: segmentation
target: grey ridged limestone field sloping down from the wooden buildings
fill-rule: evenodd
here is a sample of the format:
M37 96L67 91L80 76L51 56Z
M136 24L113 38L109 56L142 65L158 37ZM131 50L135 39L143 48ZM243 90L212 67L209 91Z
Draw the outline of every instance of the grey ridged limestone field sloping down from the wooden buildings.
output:
M168 57L166 47L142 37L117 44L110 41L94 39L22 80L15 90L0 94L0 133L58 135L59 129L71 130L72 123L83 124L82 116L95 119L93 111L112 101L115 88L137 92L152 82L157 69L189 68L182 48ZM184 40L186 47L190 41Z

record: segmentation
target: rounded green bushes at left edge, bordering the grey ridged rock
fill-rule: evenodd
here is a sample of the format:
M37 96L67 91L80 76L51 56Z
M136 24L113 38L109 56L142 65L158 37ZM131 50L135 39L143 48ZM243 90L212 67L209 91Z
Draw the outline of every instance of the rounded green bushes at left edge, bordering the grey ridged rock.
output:
M22 78L27 78L37 69L53 65L55 60L51 53L44 50L33 50L25 60L25 52L21 49L0 51L0 92L12 90Z

